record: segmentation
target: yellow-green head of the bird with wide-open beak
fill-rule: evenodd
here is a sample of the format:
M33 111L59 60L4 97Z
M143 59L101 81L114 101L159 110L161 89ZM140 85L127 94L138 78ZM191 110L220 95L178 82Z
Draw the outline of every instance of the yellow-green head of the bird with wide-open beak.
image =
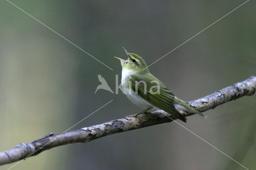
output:
M140 57L139 55L134 54L134 53L129 53L125 48L124 48L124 51L128 55L127 60L115 57L117 59L120 59L122 69L127 69L132 73L149 72L148 68L147 68L148 66L142 57Z

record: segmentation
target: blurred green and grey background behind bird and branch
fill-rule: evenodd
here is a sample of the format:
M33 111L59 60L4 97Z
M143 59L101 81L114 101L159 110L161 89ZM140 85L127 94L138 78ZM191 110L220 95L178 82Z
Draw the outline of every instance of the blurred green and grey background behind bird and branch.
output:
M18 8L0 2L0 151L46 134L138 113L124 94L98 90L98 74L115 89L122 46L148 65L243 0L12 0L112 69ZM256 75L256 2L249 1L149 67L180 99L198 99ZM120 82L119 82L120 83ZM181 123L249 169L256 164L256 95ZM0 166L7 169L14 165ZM244 169L176 123L165 123L52 148L12 169Z

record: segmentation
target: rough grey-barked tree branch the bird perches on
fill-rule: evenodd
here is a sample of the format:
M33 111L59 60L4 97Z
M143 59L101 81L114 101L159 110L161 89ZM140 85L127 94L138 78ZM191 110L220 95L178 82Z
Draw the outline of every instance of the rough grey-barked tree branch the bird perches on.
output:
M189 103L199 111L204 112L209 109L214 109L218 105L228 101L236 100L246 95L253 95L255 91L256 77L251 76L245 81L216 91L206 97L202 97L201 99L190 101ZM190 115L193 114L188 114L186 116ZM167 123L171 122L172 119L175 119L174 117L170 119L165 116L161 110L153 112L152 115L142 114L140 115L140 118L141 120L135 117L124 117L122 119L113 120L91 127L85 127L71 132L65 132L63 134L50 133L43 138L36 139L32 142L26 144L20 143L15 148L0 153L0 165L22 160L28 156L35 156L44 150L48 150L56 146L76 142L90 142L91 140L107 136L109 134Z

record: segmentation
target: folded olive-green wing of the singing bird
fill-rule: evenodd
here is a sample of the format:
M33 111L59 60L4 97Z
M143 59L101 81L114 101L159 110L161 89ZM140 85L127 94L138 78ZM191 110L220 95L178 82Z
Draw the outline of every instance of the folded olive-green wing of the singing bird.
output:
M131 75L129 80L132 84L132 90L134 92L137 92L138 95L145 99L145 101L151 103L159 109L166 111L173 117L180 119L183 122L186 122L186 118L178 113L178 111L174 107L173 101L175 99L175 96L171 93L169 89L165 87L165 85L160 80L154 77L154 75L152 75L151 73L144 75L133 74ZM157 81L158 83L151 82L152 80ZM143 81L145 81L146 87ZM160 85L159 91L157 89L158 84Z

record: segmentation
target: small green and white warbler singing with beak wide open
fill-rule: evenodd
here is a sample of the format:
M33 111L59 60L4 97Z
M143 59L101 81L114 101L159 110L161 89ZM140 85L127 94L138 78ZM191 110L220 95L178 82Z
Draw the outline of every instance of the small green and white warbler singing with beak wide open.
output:
M134 117L140 119L138 115L149 113L147 111L153 107L162 109L183 122L186 122L186 118L177 110L203 115L187 102L174 96L160 80L149 72L148 66L142 57L129 53L125 48L124 50L128 55L127 60L115 57L120 59L122 65L122 88L132 103L145 109Z

